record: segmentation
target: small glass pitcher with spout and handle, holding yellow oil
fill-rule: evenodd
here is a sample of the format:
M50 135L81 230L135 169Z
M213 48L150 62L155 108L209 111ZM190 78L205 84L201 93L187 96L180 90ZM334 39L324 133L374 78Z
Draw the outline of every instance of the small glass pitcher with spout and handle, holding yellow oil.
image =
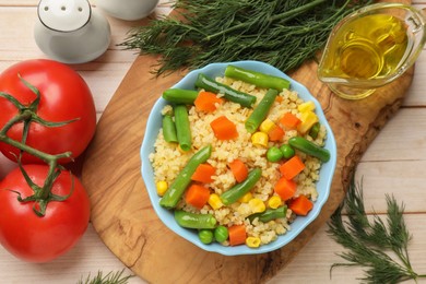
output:
M426 40L425 24L422 10L402 3L357 10L331 32L319 80L343 98L371 95L414 64Z

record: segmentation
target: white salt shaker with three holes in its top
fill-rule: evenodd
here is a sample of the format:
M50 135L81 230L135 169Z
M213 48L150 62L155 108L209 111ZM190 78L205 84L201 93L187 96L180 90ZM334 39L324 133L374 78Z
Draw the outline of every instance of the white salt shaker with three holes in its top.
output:
M98 58L109 46L109 23L87 0L40 0L37 13L35 42L51 59L84 63Z

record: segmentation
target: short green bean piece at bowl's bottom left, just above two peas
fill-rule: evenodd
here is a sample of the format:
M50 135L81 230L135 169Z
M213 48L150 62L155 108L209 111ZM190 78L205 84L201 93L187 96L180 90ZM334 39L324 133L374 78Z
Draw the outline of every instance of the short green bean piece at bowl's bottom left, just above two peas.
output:
M175 220L184 228L212 229L217 223L212 214L192 213L184 210L175 211Z

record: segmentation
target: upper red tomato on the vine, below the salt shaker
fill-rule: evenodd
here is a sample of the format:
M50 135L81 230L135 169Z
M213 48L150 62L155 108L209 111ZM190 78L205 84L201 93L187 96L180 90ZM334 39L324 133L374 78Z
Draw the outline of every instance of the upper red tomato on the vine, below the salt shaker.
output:
M21 61L0 74L0 92L12 95L24 105L29 105L36 95L21 82L19 74L40 92L37 109L40 118L55 122L79 119L54 128L32 122L26 144L49 154L71 151L73 157L79 156L88 145L96 128L96 109L87 84L74 70L57 61ZM0 109L0 128L19 113L14 105L2 97ZM21 141L23 123L17 123L7 134ZM12 161L16 159L19 153L17 149L5 143L0 143L0 151ZM39 162L27 153L23 155L24 164Z

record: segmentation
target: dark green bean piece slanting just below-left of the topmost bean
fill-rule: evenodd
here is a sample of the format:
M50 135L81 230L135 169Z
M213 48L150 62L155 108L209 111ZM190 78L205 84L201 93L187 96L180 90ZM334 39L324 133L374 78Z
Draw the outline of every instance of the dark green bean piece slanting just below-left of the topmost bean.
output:
M216 82L215 80L200 73L196 81L196 86L216 94L223 94L227 100L240 104L244 107L252 107L256 103L256 96L249 95L228 85Z

